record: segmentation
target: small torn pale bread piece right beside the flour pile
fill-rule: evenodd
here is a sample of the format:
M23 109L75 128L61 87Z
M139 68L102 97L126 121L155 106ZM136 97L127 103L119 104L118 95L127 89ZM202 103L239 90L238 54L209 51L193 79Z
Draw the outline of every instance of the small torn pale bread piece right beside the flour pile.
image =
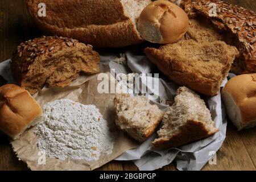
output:
M117 127L139 142L150 137L163 118L163 112L158 106L151 105L144 96L116 94L114 109L117 113Z

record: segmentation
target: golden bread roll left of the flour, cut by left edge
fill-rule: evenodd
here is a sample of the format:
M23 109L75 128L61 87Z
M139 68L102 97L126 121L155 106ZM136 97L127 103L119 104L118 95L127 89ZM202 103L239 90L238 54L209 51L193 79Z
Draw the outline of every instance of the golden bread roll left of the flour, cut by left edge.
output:
M27 90L13 84L0 87L0 130L17 139L42 115L40 105Z

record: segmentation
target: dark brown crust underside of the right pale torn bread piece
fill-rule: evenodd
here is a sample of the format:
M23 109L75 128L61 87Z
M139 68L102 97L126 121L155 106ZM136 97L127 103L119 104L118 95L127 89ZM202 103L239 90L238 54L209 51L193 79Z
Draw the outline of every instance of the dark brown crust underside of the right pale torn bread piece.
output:
M203 123L198 121L187 121L187 123L180 127L179 132L173 135L171 138L160 138L152 142L156 148L171 148L179 147L184 144L195 142L197 140L207 138L210 135L218 132L218 129L209 131Z

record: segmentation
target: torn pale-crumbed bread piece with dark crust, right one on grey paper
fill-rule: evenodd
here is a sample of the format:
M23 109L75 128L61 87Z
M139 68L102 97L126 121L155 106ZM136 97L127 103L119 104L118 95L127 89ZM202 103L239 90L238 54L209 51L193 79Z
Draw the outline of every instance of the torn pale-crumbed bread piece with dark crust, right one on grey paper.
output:
M207 138L217 131L204 100L183 86L177 90L174 105L164 113L159 138L152 144L156 148L179 147Z

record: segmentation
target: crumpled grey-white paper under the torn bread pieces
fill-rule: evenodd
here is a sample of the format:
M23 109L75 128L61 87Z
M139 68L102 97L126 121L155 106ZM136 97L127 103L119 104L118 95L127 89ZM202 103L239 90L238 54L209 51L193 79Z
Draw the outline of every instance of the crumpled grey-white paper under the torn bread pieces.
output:
M101 55L101 71L109 71L109 68L115 69L115 73L160 73L156 70L155 66L144 56L135 55L133 49L125 51L127 56L127 65L117 64L114 60L118 56L117 53L100 52ZM155 72L158 71L158 72ZM0 75L2 75L8 83L15 83L10 72L9 60L0 63ZM222 84L226 84L225 80ZM143 82L142 84L146 84ZM161 100L170 100L174 98L179 85L166 79L166 77L160 76L159 78L159 98L153 100L164 110L168 106L159 104ZM154 88L151 88L151 92L155 92ZM149 96L150 94L146 94ZM215 125L220 131L209 138L181 146L179 148L170 148L168 150L155 150L151 146L151 142L157 137L156 133L148 138L144 143L134 150L126 151L115 160L133 160L136 166L140 170L154 170L166 166L175 160L177 169L179 170L200 170L203 166L212 158L214 152L217 152L224 142L226 135L226 119L224 107L221 105L220 94L214 97L201 96L211 114Z

